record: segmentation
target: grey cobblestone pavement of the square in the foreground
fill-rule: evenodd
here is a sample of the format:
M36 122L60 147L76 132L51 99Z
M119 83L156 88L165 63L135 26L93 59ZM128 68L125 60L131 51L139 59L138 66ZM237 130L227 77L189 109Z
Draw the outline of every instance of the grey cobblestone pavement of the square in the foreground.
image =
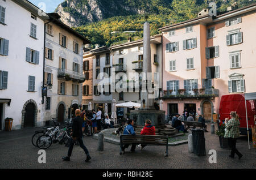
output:
M148 146L131 153L119 155L119 145L104 143L104 151L97 151L97 140L86 136L84 144L92 156L90 162L84 162L85 155L79 146L73 148L71 161L65 162L61 157L67 155L68 148L52 144L46 149L46 164L38 163L38 148L31 144L31 137L38 128L27 128L11 132L0 132L0 168L256 168L256 149L248 149L247 137L237 140L237 149L243 154L241 160L229 157L230 150L221 149L218 136L205 132L207 156L188 153L188 144L169 147L169 156L164 157L166 147ZM252 144L252 143L251 143ZM217 163L210 164L208 152L217 151Z

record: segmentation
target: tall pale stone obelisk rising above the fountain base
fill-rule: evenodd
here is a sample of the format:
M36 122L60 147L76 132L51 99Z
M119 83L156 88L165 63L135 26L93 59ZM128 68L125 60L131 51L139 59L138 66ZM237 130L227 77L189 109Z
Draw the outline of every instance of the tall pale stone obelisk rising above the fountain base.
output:
M141 100L142 100L142 109L154 109L153 98L148 98L148 91L146 89L146 85L148 83L151 84L152 75L148 76L148 72L152 74L151 68L151 48L150 48L150 24L148 22L143 25L143 68L142 68L142 92L141 92ZM148 79L148 77L150 77ZM146 92L143 92L143 89L146 89Z

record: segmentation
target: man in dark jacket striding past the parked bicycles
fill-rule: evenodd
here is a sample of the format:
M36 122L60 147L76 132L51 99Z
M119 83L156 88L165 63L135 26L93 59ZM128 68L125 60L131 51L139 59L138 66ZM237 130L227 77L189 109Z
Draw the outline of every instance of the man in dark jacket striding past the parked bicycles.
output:
M69 140L69 148L68 148L68 156L63 157L64 161L70 161L70 157L73 150L73 145L75 144L76 140L79 142L80 147L84 149L86 154L85 162L88 162L91 157L89 155L88 149L85 147L84 143L82 142L82 119L80 117L80 109L76 109L76 118L73 118L72 123L72 138Z

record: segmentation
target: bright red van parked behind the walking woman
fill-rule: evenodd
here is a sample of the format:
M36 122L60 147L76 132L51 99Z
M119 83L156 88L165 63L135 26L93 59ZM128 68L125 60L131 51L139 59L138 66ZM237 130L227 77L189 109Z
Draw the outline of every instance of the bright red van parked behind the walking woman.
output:
M254 118L256 116L255 105L256 100L247 100L247 117L248 127L251 136L251 126L254 126ZM221 96L220 101L220 120L225 121L225 118L230 118L230 112L237 112L240 117L240 134L247 135L247 124L246 124L246 111L245 111L245 95L224 95Z

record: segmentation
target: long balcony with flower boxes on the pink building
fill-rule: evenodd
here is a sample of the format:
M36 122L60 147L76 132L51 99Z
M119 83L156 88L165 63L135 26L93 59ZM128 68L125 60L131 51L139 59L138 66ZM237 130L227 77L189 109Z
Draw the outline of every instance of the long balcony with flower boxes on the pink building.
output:
M178 89L178 91L160 91L160 98L163 99L184 99L184 98L211 98L218 97L218 89L193 89L186 91L185 89Z

